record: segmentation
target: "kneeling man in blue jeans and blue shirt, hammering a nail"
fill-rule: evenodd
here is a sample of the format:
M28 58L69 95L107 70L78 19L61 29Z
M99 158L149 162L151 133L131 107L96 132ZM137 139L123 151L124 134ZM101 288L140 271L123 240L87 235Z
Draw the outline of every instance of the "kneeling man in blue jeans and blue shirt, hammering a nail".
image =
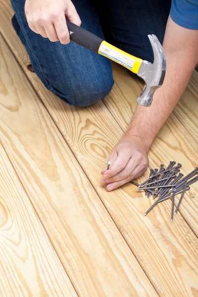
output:
M124 51L153 61L148 34L163 42L167 71L150 107L137 106L101 171L107 191L140 176L155 135L198 62L198 0L11 0L13 26L46 88L68 104L88 106L113 86L110 61L69 40L65 17ZM25 13L24 13L25 11ZM170 13L170 15L169 15ZM81 23L82 22L82 23Z

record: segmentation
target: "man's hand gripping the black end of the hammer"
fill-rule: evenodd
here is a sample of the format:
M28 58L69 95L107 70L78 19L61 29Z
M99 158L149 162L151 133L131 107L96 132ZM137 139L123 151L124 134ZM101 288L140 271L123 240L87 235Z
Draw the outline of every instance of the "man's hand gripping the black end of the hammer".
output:
M81 25L71 0L26 0L25 15L32 31L64 45L70 42L65 17L68 21Z

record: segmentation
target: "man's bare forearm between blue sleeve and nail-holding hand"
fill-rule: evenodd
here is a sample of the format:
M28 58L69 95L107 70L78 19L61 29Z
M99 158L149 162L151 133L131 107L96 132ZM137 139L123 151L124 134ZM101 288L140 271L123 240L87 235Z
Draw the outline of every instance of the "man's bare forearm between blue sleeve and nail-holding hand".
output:
M141 137L147 148L182 96L198 61L198 31L182 28L170 18L163 49L167 69L162 87L150 107L138 105L127 129L128 135Z

